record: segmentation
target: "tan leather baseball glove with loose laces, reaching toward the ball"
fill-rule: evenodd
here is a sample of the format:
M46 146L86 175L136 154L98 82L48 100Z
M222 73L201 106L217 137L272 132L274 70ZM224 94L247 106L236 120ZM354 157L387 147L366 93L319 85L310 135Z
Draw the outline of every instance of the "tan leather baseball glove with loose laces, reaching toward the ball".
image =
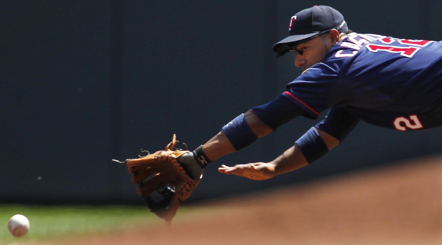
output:
M191 195L203 171L192 152L175 148L177 142L174 134L164 151L126 161L113 160L127 164L132 182L138 186L138 195L151 212L167 222L173 219L181 203Z

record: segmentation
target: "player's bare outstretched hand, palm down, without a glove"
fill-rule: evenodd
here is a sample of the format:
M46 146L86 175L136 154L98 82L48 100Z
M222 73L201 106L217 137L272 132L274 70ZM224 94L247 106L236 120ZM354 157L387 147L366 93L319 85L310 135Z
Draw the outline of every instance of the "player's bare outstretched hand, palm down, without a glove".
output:
M265 180L275 176L275 166L273 163L247 163L237 164L233 167L223 164L218 168L218 171L255 180Z

